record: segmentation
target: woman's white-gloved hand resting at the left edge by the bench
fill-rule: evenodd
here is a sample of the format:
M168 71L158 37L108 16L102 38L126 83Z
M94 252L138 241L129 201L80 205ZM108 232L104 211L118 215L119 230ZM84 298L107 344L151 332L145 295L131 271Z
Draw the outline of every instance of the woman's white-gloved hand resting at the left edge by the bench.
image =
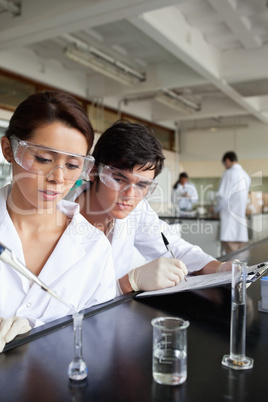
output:
M13 316L4 319L0 317L0 353L6 343L12 341L17 335L30 331L30 329L32 328L27 318Z

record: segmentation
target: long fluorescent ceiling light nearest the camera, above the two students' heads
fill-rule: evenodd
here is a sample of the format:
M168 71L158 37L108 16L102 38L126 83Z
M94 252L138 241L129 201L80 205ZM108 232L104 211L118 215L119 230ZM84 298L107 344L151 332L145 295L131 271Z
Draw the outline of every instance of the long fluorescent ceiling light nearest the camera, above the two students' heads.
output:
M84 51L71 46L65 50L64 54L68 59L125 85L135 85L146 79L144 74L92 47Z

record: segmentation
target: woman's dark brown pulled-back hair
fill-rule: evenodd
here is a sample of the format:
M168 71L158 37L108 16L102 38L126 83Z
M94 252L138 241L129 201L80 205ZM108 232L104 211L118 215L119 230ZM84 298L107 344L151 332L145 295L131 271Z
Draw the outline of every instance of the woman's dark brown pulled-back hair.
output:
M15 135L27 141L38 127L55 122L84 134L88 143L87 152L90 151L94 130L86 112L74 97L59 91L39 92L21 102L11 117L5 135L8 138Z

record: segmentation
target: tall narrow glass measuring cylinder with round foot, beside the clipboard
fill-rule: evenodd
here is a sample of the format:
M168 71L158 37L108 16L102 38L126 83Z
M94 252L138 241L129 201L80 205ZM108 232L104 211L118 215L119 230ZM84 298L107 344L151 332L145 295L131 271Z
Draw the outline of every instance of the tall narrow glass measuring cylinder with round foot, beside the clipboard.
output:
M253 359L246 357L246 263L232 263L232 306L230 354L224 355L224 366L245 370L253 367Z

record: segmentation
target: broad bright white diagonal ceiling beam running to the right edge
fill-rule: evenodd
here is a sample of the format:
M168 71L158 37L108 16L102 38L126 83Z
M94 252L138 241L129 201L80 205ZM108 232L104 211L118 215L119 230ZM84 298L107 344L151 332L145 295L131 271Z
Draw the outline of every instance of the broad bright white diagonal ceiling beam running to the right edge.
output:
M133 18L130 22L199 73L247 113L268 124L266 114L243 98L223 78L221 53L208 45L203 36L186 23L177 8L148 12L143 14L142 18Z

